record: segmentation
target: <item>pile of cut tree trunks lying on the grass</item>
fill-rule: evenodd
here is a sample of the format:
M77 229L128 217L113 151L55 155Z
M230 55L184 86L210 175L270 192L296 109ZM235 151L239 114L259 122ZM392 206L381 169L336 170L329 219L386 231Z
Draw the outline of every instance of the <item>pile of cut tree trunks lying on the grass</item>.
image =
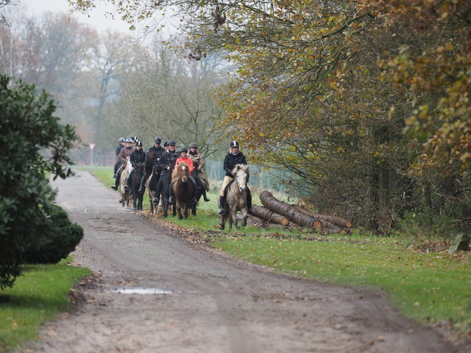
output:
M351 232L350 220L333 215L310 213L299 205L289 205L278 200L267 190L260 193L260 201L265 207L253 205L255 216L248 219L248 222L255 227L263 227L267 222L272 222L293 229L295 223L327 234Z

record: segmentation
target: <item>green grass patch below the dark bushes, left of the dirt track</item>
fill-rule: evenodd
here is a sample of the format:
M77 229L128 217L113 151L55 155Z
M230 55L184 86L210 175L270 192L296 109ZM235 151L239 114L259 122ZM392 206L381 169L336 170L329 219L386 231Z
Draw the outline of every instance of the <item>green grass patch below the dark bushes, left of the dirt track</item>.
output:
M71 286L90 274L66 260L57 265L24 266L14 287L0 291L0 352L35 339L42 322L70 307L67 294Z

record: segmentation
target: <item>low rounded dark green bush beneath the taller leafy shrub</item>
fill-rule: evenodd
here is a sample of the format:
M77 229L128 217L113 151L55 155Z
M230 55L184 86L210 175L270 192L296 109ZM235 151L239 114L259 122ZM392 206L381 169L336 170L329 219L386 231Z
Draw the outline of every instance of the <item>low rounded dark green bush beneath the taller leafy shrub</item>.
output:
M73 252L83 238L83 228L69 220L69 215L59 206L54 206L51 222L56 227L56 236L39 247L31 247L21 256L26 264L55 264Z

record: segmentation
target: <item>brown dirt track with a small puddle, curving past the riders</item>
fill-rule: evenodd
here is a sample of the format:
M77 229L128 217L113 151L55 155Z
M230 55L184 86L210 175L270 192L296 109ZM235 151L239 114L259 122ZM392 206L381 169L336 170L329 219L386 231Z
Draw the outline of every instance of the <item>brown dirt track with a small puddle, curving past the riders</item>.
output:
M300 280L191 245L118 204L90 174L60 180L59 204L85 230L75 312L23 352L453 352L383 298ZM147 288L156 294L114 290Z

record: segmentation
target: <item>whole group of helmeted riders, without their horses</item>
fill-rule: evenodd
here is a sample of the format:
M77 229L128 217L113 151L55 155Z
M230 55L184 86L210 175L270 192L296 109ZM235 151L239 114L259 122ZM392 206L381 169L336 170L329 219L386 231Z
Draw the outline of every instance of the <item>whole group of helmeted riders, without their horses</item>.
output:
M125 168L124 162L129 157L129 162L131 163L131 170L128 172L126 185L124 186L124 190L128 190L131 180L131 173L134 168L136 168L136 164L142 163L144 164L146 161L146 155L148 153L153 153L153 170L157 173L160 173L159 182L156 186L156 197L152 200L152 203L158 205L161 189L162 189L162 180L165 180L167 175L171 175L173 168L178 163L187 163L188 168L190 169L191 175L188 177L193 184L193 200L192 203L198 203L196 198L197 187L196 187L196 180L198 178L201 180L201 184L203 185L203 199L208 202L209 198L206 196L206 191L209 191L209 183L206 180L203 174L203 167L204 167L204 155L198 152L198 145L196 143L190 143L189 147L190 150L186 147L181 148L180 150L176 150L176 143L174 140L168 140L166 143L163 143L163 147L161 147L162 139L156 137L153 140L153 146L148 148L147 153L144 152L142 148L142 142L138 140L136 136L126 137L126 138L119 138L118 139L118 147L116 148L116 155L118 156L118 160L114 165L114 174L113 178L115 178L115 185L112 185L111 188L114 190L118 190L118 185L120 184L121 172ZM221 188L221 194L219 195L219 210L218 214L223 215L224 204L226 203L226 187L231 183L234 176L232 175L232 170L238 164L247 164L247 160L245 160L245 155L239 150L240 146L237 141L231 141L230 151L224 158L223 168L226 172L223 180L223 186ZM195 168L196 166L196 168ZM144 185L146 183L148 175L146 173L143 174L143 177L140 181L140 187L138 192L144 192ZM172 188L171 195L168 200L168 203L173 203L173 195L172 195ZM250 195L250 190L247 190L247 205L248 205L248 213L253 214L253 209L251 208L252 205L252 196Z

